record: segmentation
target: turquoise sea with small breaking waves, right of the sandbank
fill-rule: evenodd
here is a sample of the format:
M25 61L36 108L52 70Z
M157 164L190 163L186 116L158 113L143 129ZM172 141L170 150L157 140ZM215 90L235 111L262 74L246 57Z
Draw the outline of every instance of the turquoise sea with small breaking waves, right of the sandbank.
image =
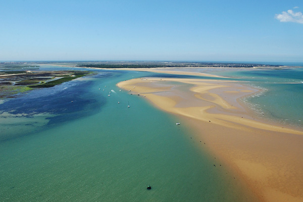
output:
M303 129L303 68L248 69L214 72L237 78L262 91L243 101L257 115L282 125Z

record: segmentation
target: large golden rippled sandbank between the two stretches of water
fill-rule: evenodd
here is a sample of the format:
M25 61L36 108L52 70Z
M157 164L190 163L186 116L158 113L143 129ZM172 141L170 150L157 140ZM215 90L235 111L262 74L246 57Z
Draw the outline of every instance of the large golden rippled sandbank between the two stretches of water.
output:
M303 132L255 120L238 98L257 89L180 78L132 79L118 86L183 118L196 141L206 142L261 201L303 201Z

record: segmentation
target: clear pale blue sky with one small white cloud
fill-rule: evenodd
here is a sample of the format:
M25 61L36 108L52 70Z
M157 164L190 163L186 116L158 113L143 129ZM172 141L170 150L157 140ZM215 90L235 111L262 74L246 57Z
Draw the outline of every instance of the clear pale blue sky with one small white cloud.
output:
M303 1L0 0L0 61L303 62Z

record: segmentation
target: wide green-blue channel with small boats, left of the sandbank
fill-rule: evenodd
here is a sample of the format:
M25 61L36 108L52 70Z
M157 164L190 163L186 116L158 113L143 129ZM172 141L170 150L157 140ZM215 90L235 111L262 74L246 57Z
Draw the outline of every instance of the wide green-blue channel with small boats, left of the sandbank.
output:
M0 201L255 201L176 117L116 86L154 74L95 72L0 105Z

